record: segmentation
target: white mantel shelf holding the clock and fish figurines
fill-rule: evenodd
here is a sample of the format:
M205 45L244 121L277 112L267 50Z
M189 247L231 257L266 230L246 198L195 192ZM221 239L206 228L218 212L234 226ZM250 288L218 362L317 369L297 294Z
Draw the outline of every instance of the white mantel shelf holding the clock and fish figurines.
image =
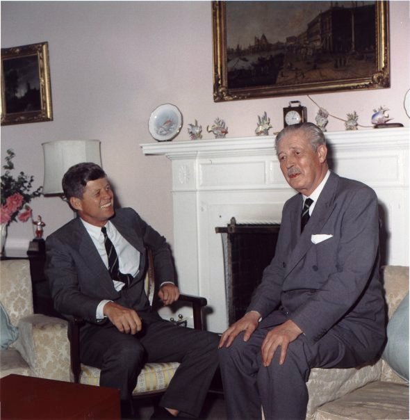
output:
M329 131L325 133L327 142L332 147L350 150L363 147L408 148L410 128L369 129L356 131ZM275 136L213 138L210 140L179 140L161 143L143 143L140 145L145 155L165 155L169 159L189 159L198 155L272 153Z

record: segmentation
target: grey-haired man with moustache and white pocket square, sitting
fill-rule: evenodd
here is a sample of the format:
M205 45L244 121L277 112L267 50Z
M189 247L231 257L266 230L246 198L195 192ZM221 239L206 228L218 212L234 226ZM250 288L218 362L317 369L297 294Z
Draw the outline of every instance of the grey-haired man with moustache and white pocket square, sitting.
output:
M328 169L314 124L286 127L275 145L299 194L247 313L220 340L229 419L260 419L261 406L267 420L304 419L310 369L370 362L385 340L375 192Z

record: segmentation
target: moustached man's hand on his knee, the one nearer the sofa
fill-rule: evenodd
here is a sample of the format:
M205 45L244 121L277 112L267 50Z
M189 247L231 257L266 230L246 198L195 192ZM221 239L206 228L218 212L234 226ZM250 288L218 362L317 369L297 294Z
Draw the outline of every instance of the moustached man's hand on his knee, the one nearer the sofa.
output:
M270 330L266 334L261 347L263 366L270 365L279 346L281 347L279 364L284 364L289 343L297 339L300 334L302 334L302 330L290 319Z

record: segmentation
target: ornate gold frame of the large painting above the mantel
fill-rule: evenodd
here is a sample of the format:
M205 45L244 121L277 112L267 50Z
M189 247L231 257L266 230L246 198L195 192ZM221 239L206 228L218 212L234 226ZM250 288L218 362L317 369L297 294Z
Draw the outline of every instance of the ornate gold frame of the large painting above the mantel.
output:
M245 88L231 88L228 83L226 3L227 1L212 2L214 102L390 87L388 0L375 1L377 71L373 74L358 79ZM231 2L233 3L240 4L238 1Z

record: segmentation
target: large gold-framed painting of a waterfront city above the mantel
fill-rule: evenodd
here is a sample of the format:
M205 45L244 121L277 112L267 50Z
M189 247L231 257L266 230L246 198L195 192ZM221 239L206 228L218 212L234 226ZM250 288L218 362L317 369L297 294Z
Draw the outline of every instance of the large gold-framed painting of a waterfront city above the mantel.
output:
M213 1L213 99L390 87L388 1Z

